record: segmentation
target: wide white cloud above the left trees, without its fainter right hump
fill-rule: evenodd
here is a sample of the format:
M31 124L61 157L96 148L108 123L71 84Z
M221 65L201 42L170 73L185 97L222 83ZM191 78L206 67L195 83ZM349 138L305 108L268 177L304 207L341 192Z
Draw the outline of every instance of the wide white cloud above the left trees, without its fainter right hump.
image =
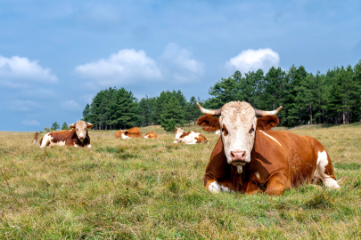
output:
M139 81L157 81L162 75L155 60L144 51L124 49L108 59L79 65L75 71L102 86L130 85Z

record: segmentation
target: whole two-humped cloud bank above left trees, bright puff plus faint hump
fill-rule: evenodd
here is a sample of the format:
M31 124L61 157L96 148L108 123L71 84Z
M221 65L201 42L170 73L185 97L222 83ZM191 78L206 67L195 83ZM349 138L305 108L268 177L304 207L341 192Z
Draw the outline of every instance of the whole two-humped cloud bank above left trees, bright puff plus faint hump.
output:
M79 65L75 71L90 82L86 85L135 85L145 82L176 81L192 82L199 79L205 64L193 60L192 52L178 44L168 44L157 60L148 57L142 50L123 49L107 59Z

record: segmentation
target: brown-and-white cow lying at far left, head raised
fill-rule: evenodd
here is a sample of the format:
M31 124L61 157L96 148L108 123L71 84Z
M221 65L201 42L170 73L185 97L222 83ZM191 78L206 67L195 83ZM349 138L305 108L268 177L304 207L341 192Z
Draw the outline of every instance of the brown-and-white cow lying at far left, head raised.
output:
M70 124L70 130L62 130L56 132L46 133L40 140L40 144L37 142L38 132L34 135L33 142L40 148L53 147L53 146L71 146L74 148L91 148L90 137L87 132L88 129L93 127L93 124L86 123L85 121L78 121L75 124Z

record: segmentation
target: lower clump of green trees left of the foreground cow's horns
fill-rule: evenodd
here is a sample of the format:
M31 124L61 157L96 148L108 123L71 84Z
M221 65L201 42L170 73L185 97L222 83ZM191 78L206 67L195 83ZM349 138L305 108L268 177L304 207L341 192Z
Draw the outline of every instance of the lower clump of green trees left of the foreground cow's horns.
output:
M200 99L198 99L201 102ZM195 124L201 116L197 100L189 101L178 90L163 91L159 96L135 99L131 91L116 87L96 93L92 103L86 104L83 119L97 130L127 129L133 126L160 124L173 131L175 125Z

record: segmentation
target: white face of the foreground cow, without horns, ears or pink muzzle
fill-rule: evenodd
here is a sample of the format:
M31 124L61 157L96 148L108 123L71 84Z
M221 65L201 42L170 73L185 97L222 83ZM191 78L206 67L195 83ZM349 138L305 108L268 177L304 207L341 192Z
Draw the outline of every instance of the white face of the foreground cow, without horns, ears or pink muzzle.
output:
M245 163L250 163L257 124L254 108L244 101L228 102L222 108L219 124L228 164L232 164L231 151L245 151ZM222 130L223 126L227 134Z

